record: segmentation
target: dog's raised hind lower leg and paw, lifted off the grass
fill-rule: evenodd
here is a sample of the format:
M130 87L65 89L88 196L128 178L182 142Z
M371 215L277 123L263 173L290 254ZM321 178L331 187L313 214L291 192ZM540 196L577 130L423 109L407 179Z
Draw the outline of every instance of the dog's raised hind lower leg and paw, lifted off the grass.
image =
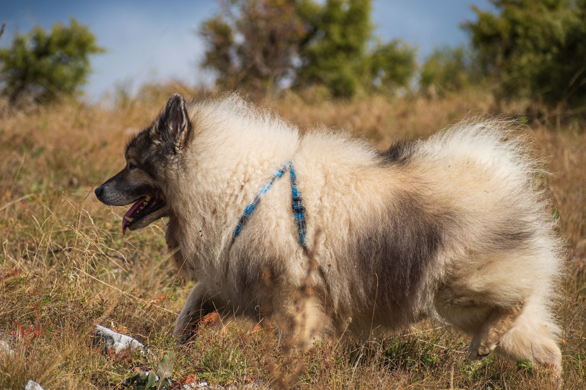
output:
M469 360L477 360L489 356L500 338L515 325L523 307L524 302L519 302L509 308L493 308L486 321L474 334L466 357Z

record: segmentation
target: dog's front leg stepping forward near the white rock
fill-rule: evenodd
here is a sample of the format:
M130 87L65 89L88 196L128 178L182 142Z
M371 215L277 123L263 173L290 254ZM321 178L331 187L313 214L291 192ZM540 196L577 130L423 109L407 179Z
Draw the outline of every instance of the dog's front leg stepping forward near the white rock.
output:
M197 323L208 313L225 309L226 305L220 302L215 293L202 283L198 283L191 289L185 306L179 313L175 322L173 336L177 337L177 344L183 344L189 340L197 329Z

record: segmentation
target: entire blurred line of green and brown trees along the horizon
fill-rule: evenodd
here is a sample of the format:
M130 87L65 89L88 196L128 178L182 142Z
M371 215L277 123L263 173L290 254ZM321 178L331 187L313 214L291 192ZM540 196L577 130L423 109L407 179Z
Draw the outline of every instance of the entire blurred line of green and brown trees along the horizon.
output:
M319 99L369 94L438 98L464 88L492 93L494 111L522 101L534 119L586 115L586 0L492 0L461 28L465 46L439 47L418 64L417 48L373 35L372 0L217 0L197 34L201 68L219 91L253 100L284 91ZM74 19L35 27L0 50L0 92L10 106L76 95L102 52Z

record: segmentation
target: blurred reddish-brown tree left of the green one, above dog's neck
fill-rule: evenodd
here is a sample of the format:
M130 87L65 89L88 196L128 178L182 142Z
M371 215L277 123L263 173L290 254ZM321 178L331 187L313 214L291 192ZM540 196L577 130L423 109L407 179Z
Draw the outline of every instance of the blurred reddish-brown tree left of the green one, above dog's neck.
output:
M199 30L207 44L202 65L216 71L216 84L260 97L291 77L292 57L305 36L295 0L218 2L222 13Z

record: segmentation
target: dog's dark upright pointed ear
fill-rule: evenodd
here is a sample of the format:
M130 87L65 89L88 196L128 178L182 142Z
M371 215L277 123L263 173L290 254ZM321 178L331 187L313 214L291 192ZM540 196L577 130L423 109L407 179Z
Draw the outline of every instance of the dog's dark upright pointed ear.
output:
M191 122L185 108L185 99L179 94L173 94L167 101L159 116L159 129L163 137L180 153L188 140Z

